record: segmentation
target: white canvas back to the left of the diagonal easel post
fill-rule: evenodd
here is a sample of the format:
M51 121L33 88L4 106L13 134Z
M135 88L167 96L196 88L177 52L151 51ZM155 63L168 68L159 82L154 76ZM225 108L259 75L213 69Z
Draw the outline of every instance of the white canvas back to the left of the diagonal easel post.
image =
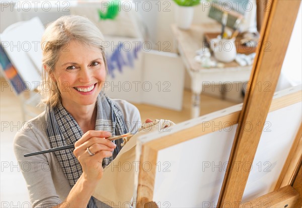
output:
M161 207L166 207L164 203L170 207L216 205L235 132L236 125L159 151L156 203Z

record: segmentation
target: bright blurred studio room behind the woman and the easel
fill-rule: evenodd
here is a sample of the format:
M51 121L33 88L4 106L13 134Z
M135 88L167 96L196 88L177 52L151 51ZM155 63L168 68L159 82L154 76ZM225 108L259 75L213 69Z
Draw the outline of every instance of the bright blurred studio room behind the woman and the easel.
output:
M109 97L134 104L142 121L180 123L243 102L269 12L264 0L0 3L1 207L30 207L12 145L24 123L44 110L36 106L48 23L64 15L89 18L105 36ZM300 8L277 90L301 84L301 25ZM224 54L215 49L221 39L235 43L233 54L233 45Z

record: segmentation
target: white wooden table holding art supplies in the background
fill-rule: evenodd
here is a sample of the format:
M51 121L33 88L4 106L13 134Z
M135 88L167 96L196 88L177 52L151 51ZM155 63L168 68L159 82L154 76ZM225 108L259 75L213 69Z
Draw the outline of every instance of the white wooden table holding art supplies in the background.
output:
M191 117L200 115L200 94L203 85L246 82L250 79L252 66L241 67L235 61L225 63L224 68L202 68L194 60L196 51L205 46L204 33L215 33L221 30L218 24L193 25L189 30L181 30L172 25L174 46L180 54L191 78L192 107Z

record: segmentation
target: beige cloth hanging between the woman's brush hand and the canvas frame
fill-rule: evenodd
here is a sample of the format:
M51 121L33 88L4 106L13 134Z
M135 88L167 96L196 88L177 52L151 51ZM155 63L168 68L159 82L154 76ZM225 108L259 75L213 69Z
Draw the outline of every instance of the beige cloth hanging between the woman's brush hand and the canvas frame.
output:
M98 182L93 196L112 207L131 207L134 173L139 167L139 161L135 161L137 138L149 132L161 131L174 124L169 120L155 120L145 123L134 136L123 138L123 148L104 169L103 177Z

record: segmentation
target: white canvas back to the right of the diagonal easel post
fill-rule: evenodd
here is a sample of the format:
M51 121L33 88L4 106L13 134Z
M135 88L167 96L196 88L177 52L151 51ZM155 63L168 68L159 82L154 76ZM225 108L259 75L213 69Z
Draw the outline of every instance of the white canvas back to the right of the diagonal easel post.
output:
M301 110L302 105L299 102L268 114L243 201L249 201L274 190L300 126Z

